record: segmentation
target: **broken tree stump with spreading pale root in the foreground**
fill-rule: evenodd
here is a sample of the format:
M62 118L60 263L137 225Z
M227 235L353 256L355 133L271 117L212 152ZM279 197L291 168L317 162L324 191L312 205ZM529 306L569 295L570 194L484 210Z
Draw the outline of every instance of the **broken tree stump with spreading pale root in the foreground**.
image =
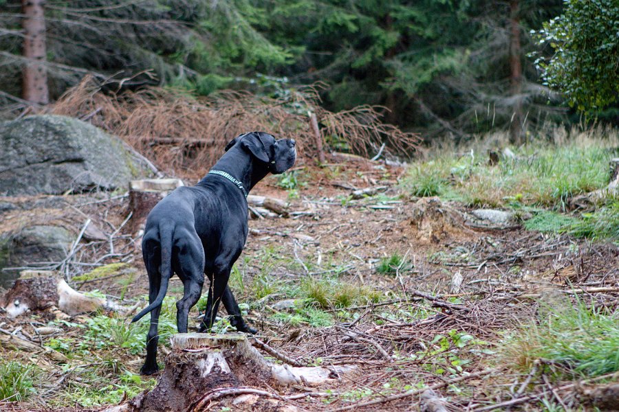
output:
M200 411L215 391L238 387L318 385L351 368L291 367L267 361L242 333L172 336L166 367L151 391L105 412Z

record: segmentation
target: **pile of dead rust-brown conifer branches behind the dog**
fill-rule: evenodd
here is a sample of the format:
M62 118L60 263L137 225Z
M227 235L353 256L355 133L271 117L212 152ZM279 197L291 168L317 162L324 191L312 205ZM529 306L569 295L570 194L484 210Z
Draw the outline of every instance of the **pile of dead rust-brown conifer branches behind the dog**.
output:
M242 91L224 91L209 98L192 98L169 89L150 88L120 94L104 93L86 77L50 108L122 137L168 172L202 177L221 156L224 146L240 133L264 130L298 142L301 157L316 157L320 148L310 124L321 123L321 139L344 144L368 157L382 148L389 156L410 157L419 137L380 122L382 108L360 106L332 113L319 105L316 87L305 87L281 98Z

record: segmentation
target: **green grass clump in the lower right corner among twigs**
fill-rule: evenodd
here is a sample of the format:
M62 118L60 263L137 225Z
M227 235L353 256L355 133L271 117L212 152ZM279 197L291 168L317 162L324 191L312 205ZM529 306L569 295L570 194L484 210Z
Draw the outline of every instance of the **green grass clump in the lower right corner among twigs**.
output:
M506 361L528 370L542 361L555 376L592 377L619 371L619 313L569 299L541 306L503 346Z

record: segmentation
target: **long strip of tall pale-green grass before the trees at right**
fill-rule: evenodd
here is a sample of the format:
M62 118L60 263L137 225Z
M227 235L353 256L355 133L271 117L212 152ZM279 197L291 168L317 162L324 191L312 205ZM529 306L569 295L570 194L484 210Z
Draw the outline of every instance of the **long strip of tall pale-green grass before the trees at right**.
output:
M514 198L523 205L561 208L568 198L608 183L613 142L580 139L560 146L533 144L514 149L488 165L487 157L440 155L409 169L402 185L414 196L441 196L474 206L502 207Z

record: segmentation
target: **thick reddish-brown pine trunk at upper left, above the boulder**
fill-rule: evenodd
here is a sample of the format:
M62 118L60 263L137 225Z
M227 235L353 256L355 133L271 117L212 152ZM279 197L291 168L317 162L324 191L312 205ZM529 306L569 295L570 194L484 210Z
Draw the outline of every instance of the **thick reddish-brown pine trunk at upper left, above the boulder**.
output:
M35 104L47 104L47 69L45 68L45 0L22 0L23 56L28 59L23 68L23 99Z

